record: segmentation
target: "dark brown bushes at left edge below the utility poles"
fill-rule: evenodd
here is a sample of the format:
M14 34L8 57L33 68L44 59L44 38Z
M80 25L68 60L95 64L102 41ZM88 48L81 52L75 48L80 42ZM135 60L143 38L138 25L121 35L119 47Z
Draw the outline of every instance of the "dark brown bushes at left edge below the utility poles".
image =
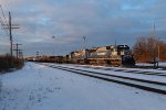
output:
M23 66L23 59L10 55L0 55L0 72L19 69Z

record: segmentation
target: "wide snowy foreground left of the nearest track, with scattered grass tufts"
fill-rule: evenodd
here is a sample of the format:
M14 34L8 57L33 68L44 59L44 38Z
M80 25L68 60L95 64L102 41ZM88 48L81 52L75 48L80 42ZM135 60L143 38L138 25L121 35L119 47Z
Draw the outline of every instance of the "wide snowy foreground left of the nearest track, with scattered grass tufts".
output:
M0 110L165 110L166 96L27 63L0 76Z

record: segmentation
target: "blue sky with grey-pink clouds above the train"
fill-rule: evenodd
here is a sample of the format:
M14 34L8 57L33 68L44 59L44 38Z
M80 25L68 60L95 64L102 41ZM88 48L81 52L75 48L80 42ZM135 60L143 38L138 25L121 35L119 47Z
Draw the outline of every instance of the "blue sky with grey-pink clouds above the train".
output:
M166 37L165 0L1 0L6 20L11 12L13 43L24 55L66 55L95 46L127 44L141 36ZM0 28L0 53L10 51L9 35Z

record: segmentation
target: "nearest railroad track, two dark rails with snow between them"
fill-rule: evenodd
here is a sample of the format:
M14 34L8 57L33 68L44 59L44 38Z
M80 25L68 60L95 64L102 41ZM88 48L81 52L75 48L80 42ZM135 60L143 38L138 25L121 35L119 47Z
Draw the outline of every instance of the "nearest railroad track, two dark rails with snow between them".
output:
M103 74L97 72L91 72L91 70L83 70L72 67L63 67L63 66L55 66L55 65L46 65L49 67L53 67L61 70L71 72L74 74L89 76L111 82L116 82L134 88L138 88L142 90L156 92L160 95L166 95L166 82L159 82L154 80L147 80L147 79L138 79L138 78L131 78L131 77L124 77L124 76L116 76L116 75L110 75L110 74Z

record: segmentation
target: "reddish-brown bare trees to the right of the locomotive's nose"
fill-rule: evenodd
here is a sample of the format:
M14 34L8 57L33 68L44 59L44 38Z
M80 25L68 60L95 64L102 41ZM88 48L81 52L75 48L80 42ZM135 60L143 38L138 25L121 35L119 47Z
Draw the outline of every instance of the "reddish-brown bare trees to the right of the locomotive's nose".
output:
M154 58L166 62L166 43L155 37L142 36L136 41L133 53L139 63L153 62Z

